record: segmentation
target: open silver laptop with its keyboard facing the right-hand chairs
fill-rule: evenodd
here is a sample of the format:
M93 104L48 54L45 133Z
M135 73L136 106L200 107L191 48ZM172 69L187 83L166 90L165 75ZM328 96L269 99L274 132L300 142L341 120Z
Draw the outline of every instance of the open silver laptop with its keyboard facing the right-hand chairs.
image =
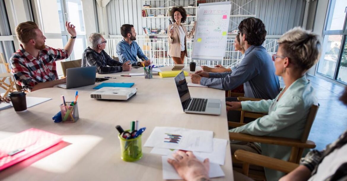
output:
M183 71L175 77L175 83L185 113L220 115L219 99L191 98Z

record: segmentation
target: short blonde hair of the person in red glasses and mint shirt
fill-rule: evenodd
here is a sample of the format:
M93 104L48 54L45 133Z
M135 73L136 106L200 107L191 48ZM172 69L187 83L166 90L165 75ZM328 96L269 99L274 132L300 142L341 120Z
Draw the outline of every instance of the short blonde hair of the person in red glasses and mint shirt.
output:
M283 50L283 56L301 70L308 70L317 63L321 54L321 42L319 36L306 31L301 27L295 27L278 40Z

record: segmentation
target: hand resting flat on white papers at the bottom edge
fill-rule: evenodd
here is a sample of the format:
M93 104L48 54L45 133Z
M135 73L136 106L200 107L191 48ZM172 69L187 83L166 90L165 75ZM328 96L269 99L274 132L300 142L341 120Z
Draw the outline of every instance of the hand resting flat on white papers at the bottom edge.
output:
M168 162L174 166L178 175L184 180L210 180L210 161L208 158L204 162L200 162L192 152L184 153L182 151L177 151L172 156L175 160L168 158Z

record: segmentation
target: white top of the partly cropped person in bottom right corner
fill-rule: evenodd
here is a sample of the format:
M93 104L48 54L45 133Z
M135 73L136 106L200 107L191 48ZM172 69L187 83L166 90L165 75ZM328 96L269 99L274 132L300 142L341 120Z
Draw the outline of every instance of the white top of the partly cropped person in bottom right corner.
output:
M323 158L323 161L319 164L316 174L312 175L309 181L323 181L333 175L342 164L347 162L346 153L347 144L345 144L341 148L335 149L328 156L325 156Z

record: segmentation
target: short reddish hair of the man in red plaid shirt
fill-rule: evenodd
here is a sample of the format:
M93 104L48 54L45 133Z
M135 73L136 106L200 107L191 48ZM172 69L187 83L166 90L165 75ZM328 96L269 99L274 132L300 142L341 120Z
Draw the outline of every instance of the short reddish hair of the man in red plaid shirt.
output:
M36 29L39 29L39 26L37 26L33 21L20 23L16 27L18 40L22 43L28 43L31 39L36 39Z

